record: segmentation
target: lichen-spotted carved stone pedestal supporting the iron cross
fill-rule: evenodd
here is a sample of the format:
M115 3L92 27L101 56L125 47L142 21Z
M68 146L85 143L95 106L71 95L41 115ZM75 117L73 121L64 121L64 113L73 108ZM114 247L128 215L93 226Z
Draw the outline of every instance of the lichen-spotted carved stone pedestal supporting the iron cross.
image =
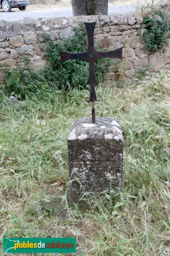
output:
M118 120L110 117L78 118L68 137L70 206L85 205L85 192L124 190L123 137ZM89 194L90 197L91 193Z

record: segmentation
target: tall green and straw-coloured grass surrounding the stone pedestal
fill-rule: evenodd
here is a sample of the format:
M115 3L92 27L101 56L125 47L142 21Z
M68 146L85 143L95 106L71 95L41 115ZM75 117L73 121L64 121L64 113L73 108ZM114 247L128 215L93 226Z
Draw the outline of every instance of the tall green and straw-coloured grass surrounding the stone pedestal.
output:
M67 136L76 118L91 115L89 91L44 82L19 110L1 93L1 238L76 236L80 256L169 255L169 84L167 71L97 88L96 115L122 125L125 192L94 198L87 212L68 210L65 191Z

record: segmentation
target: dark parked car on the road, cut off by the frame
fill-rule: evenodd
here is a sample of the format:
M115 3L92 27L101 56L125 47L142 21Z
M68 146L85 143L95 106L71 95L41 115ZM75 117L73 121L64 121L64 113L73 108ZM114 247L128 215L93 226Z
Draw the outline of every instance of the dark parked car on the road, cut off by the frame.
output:
M26 6L29 4L29 0L0 0L0 8L4 12L11 12L12 8L19 8L21 11L25 11Z

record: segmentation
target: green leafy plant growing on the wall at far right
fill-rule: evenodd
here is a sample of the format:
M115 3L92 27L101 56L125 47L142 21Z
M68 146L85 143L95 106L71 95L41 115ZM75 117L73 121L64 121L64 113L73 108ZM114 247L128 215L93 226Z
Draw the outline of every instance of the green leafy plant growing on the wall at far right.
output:
M164 12L153 12L151 16L144 17L143 24L147 29L142 36L145 40L144 46L149 52L161 49L167 41L166 32L170 29L170 21Z

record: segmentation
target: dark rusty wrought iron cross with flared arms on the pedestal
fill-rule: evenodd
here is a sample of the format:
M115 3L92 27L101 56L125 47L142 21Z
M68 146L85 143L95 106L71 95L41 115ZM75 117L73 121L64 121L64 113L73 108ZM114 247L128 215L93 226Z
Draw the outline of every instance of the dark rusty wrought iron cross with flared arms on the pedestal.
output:
M94 49L94 28L96 25L96 22L87 23L84 22L85 28L87 30L87 37L88 37L88 49L86 52L81 53L69 53L69 52L63 52L60 51L61 55L61 62L66 60L87 60L89 63L89 78L87 81L87 84L90 85L90 100L86 100L87 102L92 101L92 124L95 124L96 117L95 117L95 109L94 109L94 103L97 100L96 92L95 92L95 85L98 84L98 81L96 79L95 75L95 69L94 69L94 63L96 60L101 58L117 58L122 60L122 49L123 47L116 49L114 51L109 52L98 52Z

